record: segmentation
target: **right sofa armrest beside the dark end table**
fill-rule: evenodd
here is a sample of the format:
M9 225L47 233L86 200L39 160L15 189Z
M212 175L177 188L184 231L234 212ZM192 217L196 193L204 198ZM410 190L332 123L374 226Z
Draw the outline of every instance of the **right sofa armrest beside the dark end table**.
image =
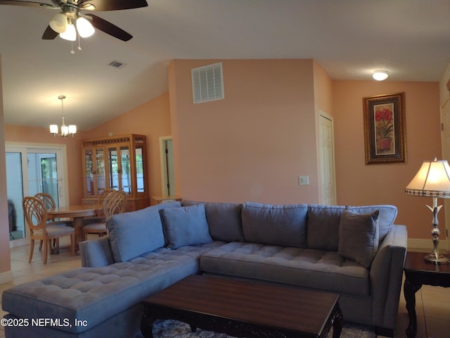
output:
M392 225L373 259L370 276L375 327L395 327L407 242L406 226Z

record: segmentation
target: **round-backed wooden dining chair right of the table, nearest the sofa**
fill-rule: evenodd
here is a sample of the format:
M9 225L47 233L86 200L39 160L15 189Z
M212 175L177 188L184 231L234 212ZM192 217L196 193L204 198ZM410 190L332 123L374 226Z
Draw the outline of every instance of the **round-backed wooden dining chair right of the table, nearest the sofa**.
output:
M108 234L106 220L116 213L123 213L127 208L127 195L122 191L113 190L103 199L103 215L104 220L98 223L84 225L82 240L87 239L88 234L98 234L99 237Z

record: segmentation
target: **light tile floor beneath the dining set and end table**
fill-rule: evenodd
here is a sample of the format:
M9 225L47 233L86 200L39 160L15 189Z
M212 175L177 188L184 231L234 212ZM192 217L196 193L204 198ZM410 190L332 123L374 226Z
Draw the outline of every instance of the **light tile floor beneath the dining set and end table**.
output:
M70 256L68 247L61 243L63 249L57 255L49 256L46 265L42 263L41 252L34 249L32 263L28 263L30 246L18 246L11 249L11 270L13 281L0 284L0 292L13 285L37 280L54 275L65 270L81 266L79 256ZM1 305L1 300L0 300ZM450 337L450 288L423 285L416 294L416 313L418 321L417 338L449 338ZM0 310L0 318L4 311ZM406 337L405 330L409 323L403 290L400 296L399 313L397 314L397 328L394 337ZM4 338L3 327L0 327L0 338Z

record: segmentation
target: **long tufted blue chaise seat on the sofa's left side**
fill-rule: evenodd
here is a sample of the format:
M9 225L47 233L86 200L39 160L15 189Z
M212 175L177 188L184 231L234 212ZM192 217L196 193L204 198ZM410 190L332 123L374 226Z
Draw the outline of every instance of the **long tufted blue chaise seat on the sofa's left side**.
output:
M198 257L223 242L161 248L131 261L101 268L77 268L11 287L3 292L2 308L20 318L86 320L87 326L61 326L84 332L188 275L198 272Z

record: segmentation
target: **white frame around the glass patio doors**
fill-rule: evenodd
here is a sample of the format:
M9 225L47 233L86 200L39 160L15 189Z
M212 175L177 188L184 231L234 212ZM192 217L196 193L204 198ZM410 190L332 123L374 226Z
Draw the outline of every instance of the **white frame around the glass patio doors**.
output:
M20 152L22 156L22 180L23 180L23 196L27 196L28 192L28 166L27 154L34 151L56 153L56 161L58 168L58 201L60 206L65 206L69 201L68 186L68 168L67 168L67 147L65 144L41 144L41 143L25 143L25 142L5 142L5 153ZM24 174L25 173L25 174ZM22 206L20 206L21 208ZM30 243L29 232L25 231L23 239L15 239L10 241L10 248Z

